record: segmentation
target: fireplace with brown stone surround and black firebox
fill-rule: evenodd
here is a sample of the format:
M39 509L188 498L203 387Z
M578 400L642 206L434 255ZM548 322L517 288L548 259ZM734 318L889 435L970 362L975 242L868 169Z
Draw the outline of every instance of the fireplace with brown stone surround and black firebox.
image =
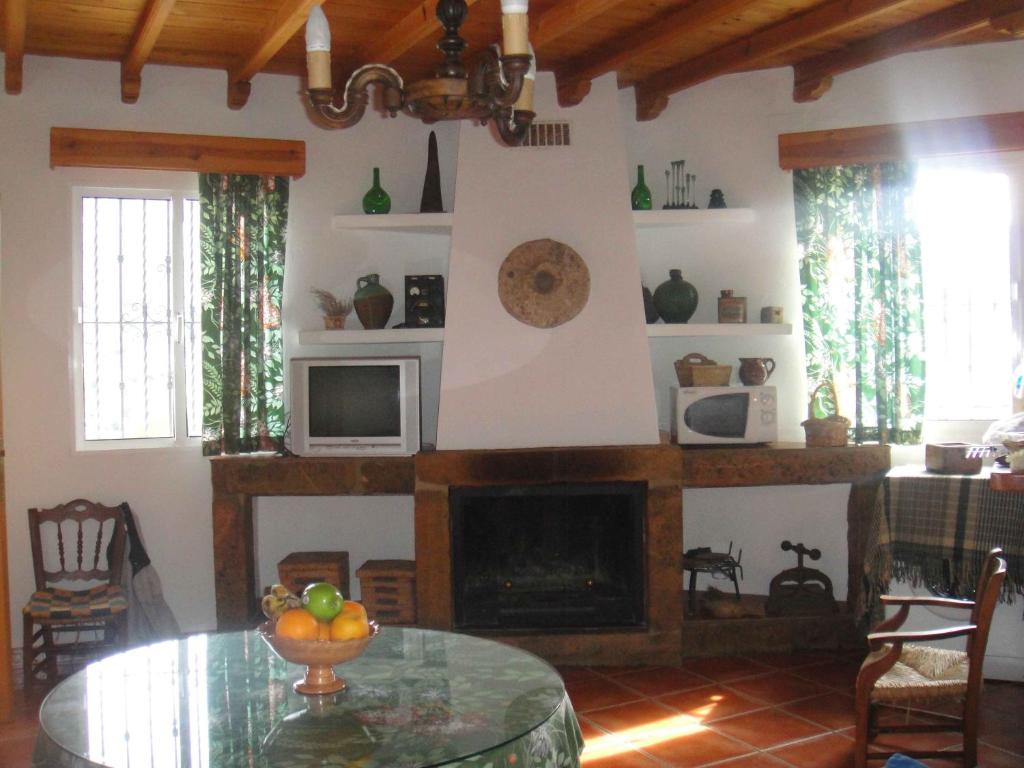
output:
M672 445L418 454L418 624L555 663L678 663L681 458ZM467 547L502 538L467 562ZM482 583L497 589L477 600Z

